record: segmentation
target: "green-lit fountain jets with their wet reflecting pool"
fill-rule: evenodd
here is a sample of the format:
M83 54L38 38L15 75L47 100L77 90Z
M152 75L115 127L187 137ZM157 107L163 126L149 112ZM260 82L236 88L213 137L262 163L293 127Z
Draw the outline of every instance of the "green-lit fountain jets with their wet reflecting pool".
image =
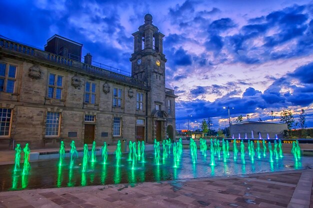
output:
M269 154L266 154L266 143L268 143L268 150ZM262 140L263 142L263 154L265 154L265 159L261 158L262 150L261 144L259 140L252 141L250 140L247 143L247 148L249 149L250 156L246 157L245 155L245 147L244 143L247 141L241 139L240 141L240 153L241 153L241 160L237 161L237 145L236 143L238 140L233 140L233 153L228 152L229 144L227 140L220 141L220 152L222 152L223 156L222 159L216 160L215 157L218 157L218 149L219 149L219 142L218 140L210 140L210 159L206 158L206 140L200 139L200 150L202 154L197 154L197 146L194 140L190 140L190 150L182 151L182 140L179 139L178 142L173 142L172 145L172 153L169 154L171 142L169 140L163 141L163 153L167 155L162 161L160 161L160 143L156 142L155 150L156 153L153 156L153 152L145 152L144 150L144 142L131 142L131 148L129 148L129 155L125 158L121 157L121 147L120 142L117 142L116 150L114 151L115 155L108 154L107 145L104 142L102 146L102 160L99 158L96 159L96 162L91 162L92 157L88 157L88 146L84 145L83 148L83 158L81 164L81 168L74 168L73 165L69 167L64 166L64 164L69 163L73 164L73 158L75 156L75 143L71 143L71 151L70 151L70 158L64 158L62 162L62 166L60 166L60 161L53 160L44 161L42 164L49 164L47 168L51 168L52 166L55 171L47 171L47 169L43 169L47 177L45 181L48 179L54 179L54 185L52 183L44 183L42 186L46 186L46 184L50 184L54 187L72 187L72 186L88 186L88 185L99 185L99 184L115 184L115 183L135 183L135 182L144 182L144 181L160 181L160 180L175 180L175 179L184 179L183 177L207 177L205 174L211 174L211 176L227 176L230 173L232 174L246 174L246 173L255 173L259 171L264 171L264 169L268 171L280 171L281 168L289 168L290 169L299 169L304 167L303 161L307 161L307 158L300 158L300 149L298 142L294 142L292 144L292 154L293 158L290 155L285 155L282 158L282 148L281 148L281 141L274 141L274 144L271 144L267 140ZM256 143L256 145L254 145ZM170 144L170 145L169 145ZM231 145L231 144L230 144ZM28 145L26 145L28 148ZM29 157L29 148L24 148L24 152L28 152ZM215 148L214 148L215 147ZM228 147L228 148L227 148ZM273 147L273 148L272 148ZM63 149L64 146L60 145L60 150ZM138 149L139 151L138 151ZM18 150L19 149L19 150ZM165 149L165 150L164 150ZM21 151L20 148L15 148L15 154ZM189 151L189 152L188 152ZM62 152L62 151L61 151ZM183 153L190 153L190 157L181 157ZM275 153L276 152L276 153ZM92 150L91 152L92 153ZM166 154L165 154L166 153ZM146 155L146 158L144 156ZM233 160L228 157L228 154L232 156ZM19 154L20 155L20 154ZM61 155L61 154L60 154ZM66 155L66 154L65 154ZM139 156L140 155L140 160ZM91 155L90 155L91 156ZM206 156L206 157L205 157ZM274 157L273 157L274 156ZM18 157L18 154L16 155ZM129 160L131 157L131 160ZM278 157L278 159L277 159ZM90 158L90 161L89 161ZM115 158L115 159L114 159ZM154 158L154 159L153 159ZM191 159L191 160L190 160ZM273 159L276 159L273 162ZM61 160L61 156L60 156ZM115 160L115 163L113 162ZM146 160L146 161L145 161ZM154 160L154 162L153 162ZM301 161L300 161L301 160ZM18 161L18 159L17 159ZM27 160L26 160L27 161ZM131 162L130 162L131 161ZM190 165L190 161L192 166L186 167L188 164ZM269 162L268 162L269 161ZM278 164L279 161L279 164ZM284 161L287 161L285 164ZM292 162L292 163L290 163ZM38 162L34 162L38 163ZM39 162L40 163L40 162ZM266 165L266 164L267 165ZM281 164L282 165L281 165ZM294 163L294 165L292 165ZM296 163L296 164L295 164ZM312 162L311 162L312 163ZM29 164L29 163L28 163ZM51 165L53 164L53 165ZM17 166L17 165L16 165ZM40 167L42 165L34 165L31 170L28 171L28 174L24 174L18 176L15 171L15 165L11 166L11 187L10 189L23 189L27 188L28 186L28 179L29 182L33 183L35 181L35 173L41 173ZM24 165L27 167L27 165ZM150 169L148 168L150 167ZM239 167L239 168L237 168ZM264 168L267 167L267 168ZM14 168L14 169L13 169ZM39 168L39 169L38 169ZM2 169L3 170L3 169ZM18 168L16 168L18 170ZM204 172L203 172L204 170ZM189 171L189 172L188 172ZM191 172L190 172L191 171ZM2 171L4 172L4 171ZM147 174L145 175L145 172ZM26 173L26 172L25 172ZM33 174L34 173L34 174ZM55 174L54 176L51 174ZM151 173L151 174L148 174ZM3 173L0 173L3 174ZM192 175L193 174L193 175ZM1 175L0 175L1 177ZM152 178L151 178L152 177ZM182 178L181 178L182 177ZM21 180L21 181L20 181ZM44 188L44 187L42 187ZM0 187L1 189L1 187ZM6 188L2 188L6 189Z

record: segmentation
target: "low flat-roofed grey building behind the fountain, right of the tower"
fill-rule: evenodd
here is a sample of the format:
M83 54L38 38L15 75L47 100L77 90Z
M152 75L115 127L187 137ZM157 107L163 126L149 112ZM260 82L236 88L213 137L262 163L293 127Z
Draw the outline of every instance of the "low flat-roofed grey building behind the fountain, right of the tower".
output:
M282 123L270 123L270 122L256 122L256 121L241 121L231 126L231 134L234 138L244 138L245 134L247 138L251 138L251 131L253 132L254 138L259 137L259 133L262 138L266 138L267 134L269 138L275 138L277 134L278 138L283 137L283 130L287 130L287 124ZM231 136L232 136L231 135Z

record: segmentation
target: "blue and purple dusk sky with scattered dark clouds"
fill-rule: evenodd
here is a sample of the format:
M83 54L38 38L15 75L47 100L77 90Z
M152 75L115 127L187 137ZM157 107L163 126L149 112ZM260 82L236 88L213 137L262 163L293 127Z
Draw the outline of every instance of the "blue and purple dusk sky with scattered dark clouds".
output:
M296 3L295 3L296 2ZM0 35L39 49L54 34L83 44L92 60L131 71L133 37L153 16L165 35L166 87L174 89L176 129L210 117L279 122L304 109L313 127L313 1L1 0Z

